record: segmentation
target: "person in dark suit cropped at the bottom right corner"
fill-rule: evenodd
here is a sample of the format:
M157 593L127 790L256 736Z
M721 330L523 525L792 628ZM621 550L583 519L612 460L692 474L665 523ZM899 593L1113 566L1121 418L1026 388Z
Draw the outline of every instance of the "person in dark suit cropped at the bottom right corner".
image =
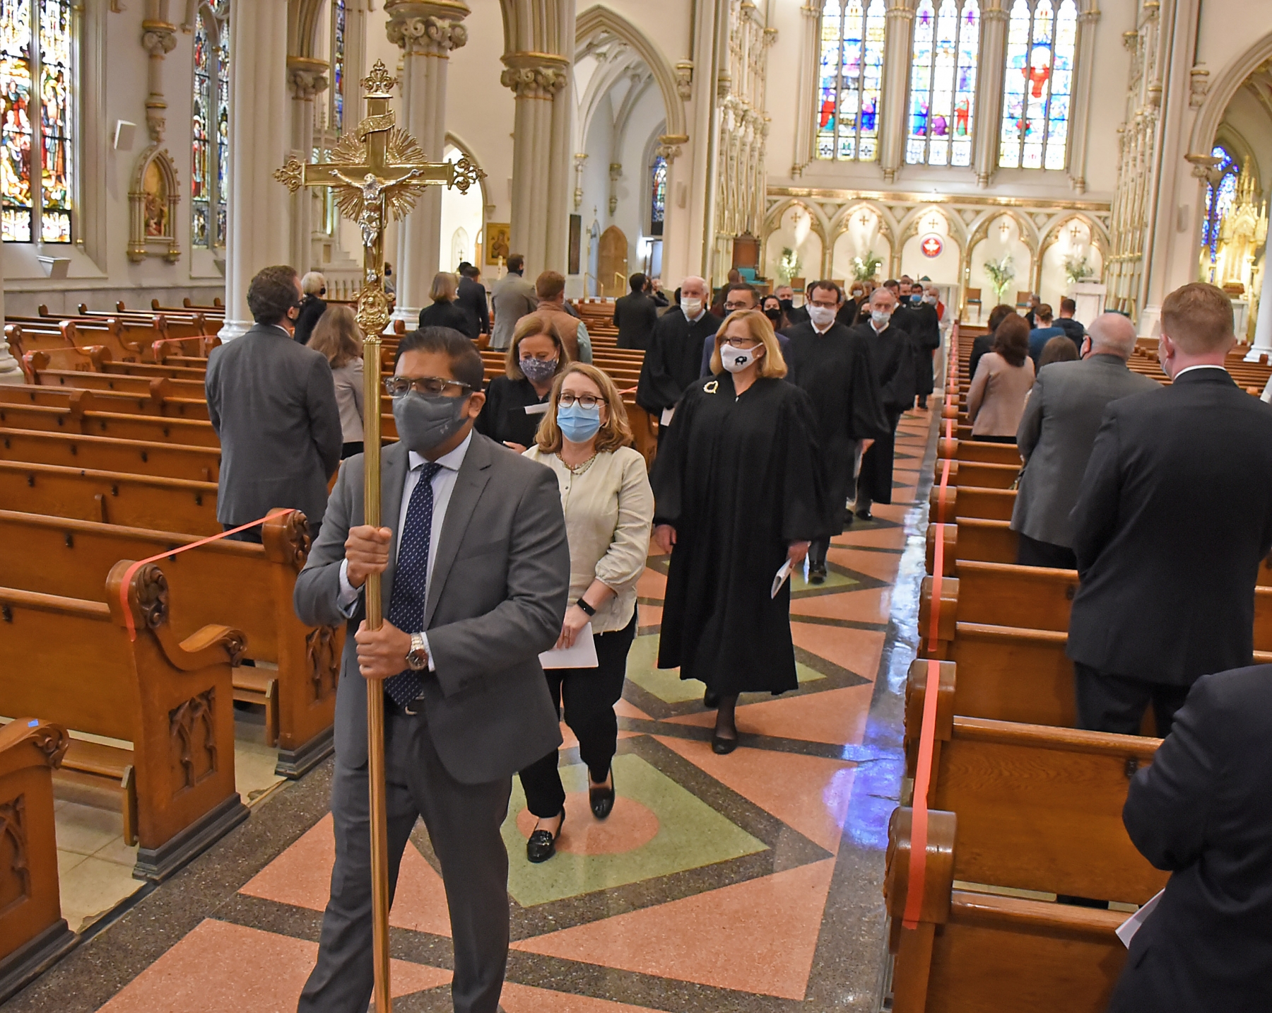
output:
M1197 680L1122 821L1172 876L1109 1013L1272 1009L1272 666Z

